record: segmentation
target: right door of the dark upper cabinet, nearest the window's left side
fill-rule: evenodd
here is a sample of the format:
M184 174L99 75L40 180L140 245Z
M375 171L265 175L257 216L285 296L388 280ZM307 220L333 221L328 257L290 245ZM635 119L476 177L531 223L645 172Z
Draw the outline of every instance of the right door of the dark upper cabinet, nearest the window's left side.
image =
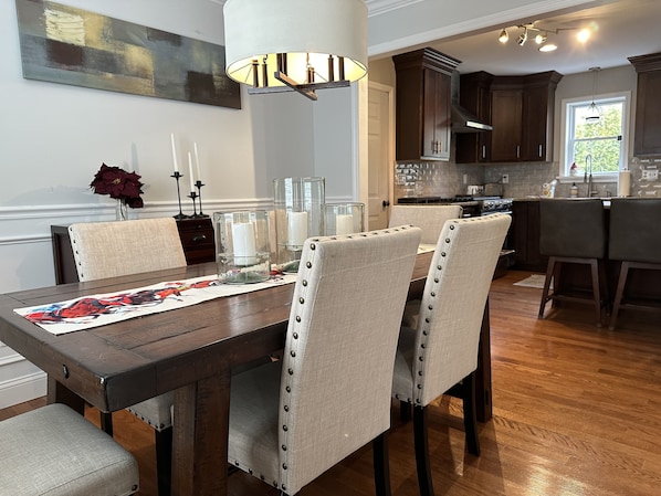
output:
M550 160L548 144L552 144L548 109L548 85L525 88L523 92L523 145L521 159L524 161Z

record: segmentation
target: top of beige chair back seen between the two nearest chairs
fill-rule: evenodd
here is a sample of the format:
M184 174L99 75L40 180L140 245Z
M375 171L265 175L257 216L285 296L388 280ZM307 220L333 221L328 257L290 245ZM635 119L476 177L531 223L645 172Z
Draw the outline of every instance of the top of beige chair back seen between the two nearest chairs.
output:
M447 220L461 218L460 205L392 205L388 225L411 224L422 230L420 243L437 244Z

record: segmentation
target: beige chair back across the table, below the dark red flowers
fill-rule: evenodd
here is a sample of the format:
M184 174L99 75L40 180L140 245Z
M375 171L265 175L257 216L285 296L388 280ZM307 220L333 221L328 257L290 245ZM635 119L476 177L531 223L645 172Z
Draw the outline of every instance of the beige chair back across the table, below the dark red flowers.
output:
M172 218L77 223L69 235L82 282L186 266Z

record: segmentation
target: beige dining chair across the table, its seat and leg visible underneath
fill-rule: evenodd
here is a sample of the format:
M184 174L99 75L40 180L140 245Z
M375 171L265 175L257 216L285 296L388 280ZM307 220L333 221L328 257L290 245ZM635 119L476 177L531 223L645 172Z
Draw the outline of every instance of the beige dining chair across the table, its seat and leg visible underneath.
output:
M186 266L172 218L76 223L69 235L82 282ZM128 409L155 430L159 496L170 494L174 397L170 391ZM102 424L112 435L109 413L102 413Z

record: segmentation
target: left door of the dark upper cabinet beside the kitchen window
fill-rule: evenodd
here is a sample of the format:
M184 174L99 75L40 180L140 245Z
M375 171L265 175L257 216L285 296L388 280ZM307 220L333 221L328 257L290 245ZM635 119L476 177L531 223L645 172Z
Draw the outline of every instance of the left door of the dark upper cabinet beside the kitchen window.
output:
M491 161L521 160L522 89L494 89L491 94Z

